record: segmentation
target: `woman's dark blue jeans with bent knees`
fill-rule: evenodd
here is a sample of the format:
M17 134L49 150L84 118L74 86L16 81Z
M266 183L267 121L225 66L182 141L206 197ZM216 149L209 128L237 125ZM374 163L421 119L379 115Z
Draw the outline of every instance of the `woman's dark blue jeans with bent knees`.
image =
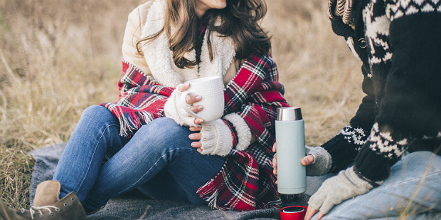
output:
M87 108L60 157L53 179L60 198L75 192L86 212L139 188L153 199L208 204L196 193L222 168L225 158L191 147L191 131L161 117L131 138L119 136L117 117L102 106ZM110 158L103 164L105 157Z

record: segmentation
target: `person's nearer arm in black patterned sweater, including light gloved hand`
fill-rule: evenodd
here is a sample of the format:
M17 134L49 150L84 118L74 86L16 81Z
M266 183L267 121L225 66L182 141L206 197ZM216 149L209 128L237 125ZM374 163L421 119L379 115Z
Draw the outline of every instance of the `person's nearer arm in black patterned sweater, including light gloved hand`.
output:
M321 219L332 206L381 184L415 138L441 138L440 4L432 7L432 1L387 3L386 9L391 10L388 31L393 55L385 73L388 77L376 122L354 167L322 184L309 200L305 219L318 210L317 219ZM373 70L381 70L375 58L371 58ZM330 186L334 186L333 190L326 190Z

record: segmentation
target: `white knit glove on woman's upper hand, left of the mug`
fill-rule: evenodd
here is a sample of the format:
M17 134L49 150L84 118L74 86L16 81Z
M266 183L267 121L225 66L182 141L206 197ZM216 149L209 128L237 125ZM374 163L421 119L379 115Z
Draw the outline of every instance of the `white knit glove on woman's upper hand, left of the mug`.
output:
M176 86L169 99L164 104L165 117L173 119L178 125L181 126L185 125L198 127L200 125L196 125L194 123L195 117L188 114L188 112L184 110L184 106L181 106L180 100L183 92L179 91L179 86L180 85Z

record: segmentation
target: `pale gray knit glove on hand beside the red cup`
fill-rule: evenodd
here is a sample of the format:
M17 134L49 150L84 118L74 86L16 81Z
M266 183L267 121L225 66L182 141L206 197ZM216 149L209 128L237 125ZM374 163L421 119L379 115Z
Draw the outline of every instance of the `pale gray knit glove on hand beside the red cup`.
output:
M312 208L326 214L333 206L340 204L346 199L365 194L373 188L373 184L381 183L382 182L376 182L371 184L358 177L358 174L354 171L354 167L349 167L339 172L335 177L326 179L322 187L309 199L308 204L312 206Z

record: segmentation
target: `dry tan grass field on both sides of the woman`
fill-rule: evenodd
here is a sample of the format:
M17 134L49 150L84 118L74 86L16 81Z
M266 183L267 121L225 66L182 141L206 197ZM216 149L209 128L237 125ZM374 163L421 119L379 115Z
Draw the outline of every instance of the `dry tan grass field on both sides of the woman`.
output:
M0 193L12 206L28 206L23 152L67 141L84 108L117 99L124 26L140 2L0 0ZM358 107L360 65L332 33L326 1L267 3L285 96L302 107L307 144L321 145Z

